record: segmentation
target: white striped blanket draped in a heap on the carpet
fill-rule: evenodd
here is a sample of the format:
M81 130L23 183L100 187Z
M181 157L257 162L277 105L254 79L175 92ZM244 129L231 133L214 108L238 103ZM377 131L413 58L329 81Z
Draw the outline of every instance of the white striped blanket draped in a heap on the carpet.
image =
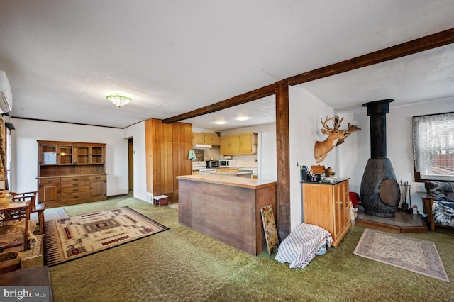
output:
M326 245L331 247L331 243L333 237L327 230L317 225L301 223L279 245L275 259L280 263L289 263L290 268L303 268L315 258L319 250L326 248Z

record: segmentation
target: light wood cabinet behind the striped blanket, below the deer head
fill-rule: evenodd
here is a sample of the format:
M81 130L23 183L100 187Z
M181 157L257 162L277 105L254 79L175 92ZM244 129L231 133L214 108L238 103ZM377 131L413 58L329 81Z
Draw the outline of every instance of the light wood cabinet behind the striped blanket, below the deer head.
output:
M351 228L348 180L337 184L304 182L302 186L303 222L327 230L337 246Z

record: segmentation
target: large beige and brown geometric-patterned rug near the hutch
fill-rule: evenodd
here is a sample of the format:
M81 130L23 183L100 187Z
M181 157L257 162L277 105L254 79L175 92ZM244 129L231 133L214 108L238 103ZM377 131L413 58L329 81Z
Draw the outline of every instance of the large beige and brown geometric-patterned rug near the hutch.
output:
M45 264L52 267L164 230L169 228L127 206L48 221Z

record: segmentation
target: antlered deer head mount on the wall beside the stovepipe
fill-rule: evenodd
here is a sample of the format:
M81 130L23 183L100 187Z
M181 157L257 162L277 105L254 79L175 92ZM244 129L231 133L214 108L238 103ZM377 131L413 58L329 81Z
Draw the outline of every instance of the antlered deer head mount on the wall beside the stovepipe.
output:
M347 130L339 130L343 118L339 118L338 116L333 116L332 118L328 118L328 116L326 116L325 121L322 121L321 119L320 121L321 125L323 125L323 129L320 129L321 133L328 135L328 138L323 140L323 142L317 141L315 143L314 157L316 162L324 160L326 155L328 155L328 152L333 150L333 147L341 145L345 138L347 138L351 133L361 130L361 128L358 128L358 125L351 125L350 123L348 123ZM329 121L333 122L332 127L327 125Z

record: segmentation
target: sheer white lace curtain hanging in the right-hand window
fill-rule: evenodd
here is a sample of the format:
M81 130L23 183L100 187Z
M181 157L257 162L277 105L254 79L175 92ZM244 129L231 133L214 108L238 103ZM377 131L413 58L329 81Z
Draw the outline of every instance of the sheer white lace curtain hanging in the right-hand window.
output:
M433 157L454 152L454 112L413 118L413 155L417 172L431 174Z

